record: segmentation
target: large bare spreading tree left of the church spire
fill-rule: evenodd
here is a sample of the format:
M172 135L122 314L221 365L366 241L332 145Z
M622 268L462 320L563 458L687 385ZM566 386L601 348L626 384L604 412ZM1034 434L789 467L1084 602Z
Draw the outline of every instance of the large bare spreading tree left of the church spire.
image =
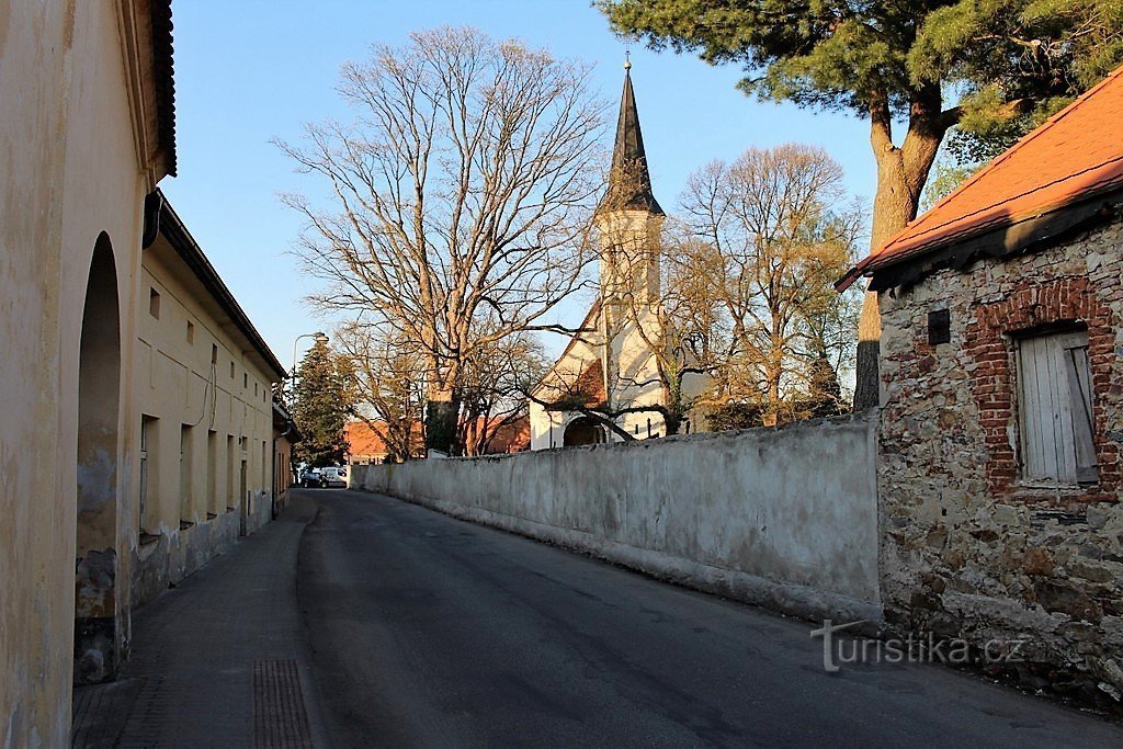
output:
M308 219L300 252L329 312L367 316L414 341L427 446L455 449L465 362L583 282L602 186L603 104L588 68L472 28L416 33L344 67L351 125L280 144L334 201L286 201ZM476 325L482 313L495 325Z

